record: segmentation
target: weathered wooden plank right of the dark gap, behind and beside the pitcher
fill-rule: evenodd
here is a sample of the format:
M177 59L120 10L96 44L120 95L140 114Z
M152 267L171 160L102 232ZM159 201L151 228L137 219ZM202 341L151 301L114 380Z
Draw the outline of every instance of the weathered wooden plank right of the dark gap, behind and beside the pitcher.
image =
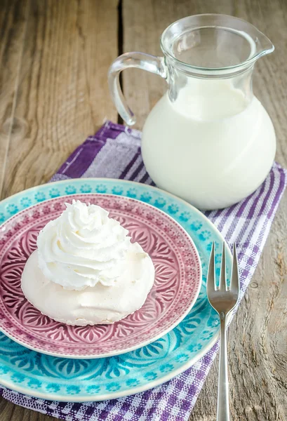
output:
M277 135L276 160L287 166L286 2L124 0L124 52L160 55L159 36L178 18L196 13L226 13L253 23L276 46L256 65L254 91L267 108ZM142 128L166 87L159 76L124 72L124 93ZM229 377L233 420L286 420L287 378L287 194L251 286L229 332ZM196 401L189 421L215 420L218 361Z

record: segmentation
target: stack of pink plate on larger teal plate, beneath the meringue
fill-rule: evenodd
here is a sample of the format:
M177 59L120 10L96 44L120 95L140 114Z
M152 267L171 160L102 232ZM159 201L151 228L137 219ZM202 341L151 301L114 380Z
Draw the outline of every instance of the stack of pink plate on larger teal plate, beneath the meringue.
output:
M58 323L21 290L40 229L72 199L109 210L154 262L145 305L113 325ZM205 287L212 243L219 265L222 237L185 201L135 182L64 180L2 201L0 223L1 385L58 401L114 399L170 380L218 339L219 320ZM227 262L231 267L230 253Z

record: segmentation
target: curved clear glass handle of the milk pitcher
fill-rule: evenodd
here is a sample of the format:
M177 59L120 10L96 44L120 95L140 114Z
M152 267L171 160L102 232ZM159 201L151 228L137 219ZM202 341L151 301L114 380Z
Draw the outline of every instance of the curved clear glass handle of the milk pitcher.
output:
M116 106L119 115L126 121L128 126L133 126L136 119L133 112L128 107L119 84L119 74L121 73L121 70L128 69L128 67L147 70L147 72L158 74L163 77L163 79L166 79L167 77L167 70L163 57L156 57L155 55L138 52L120 55L114 60L111 67L109 67L109 91L112 95L114 105Z

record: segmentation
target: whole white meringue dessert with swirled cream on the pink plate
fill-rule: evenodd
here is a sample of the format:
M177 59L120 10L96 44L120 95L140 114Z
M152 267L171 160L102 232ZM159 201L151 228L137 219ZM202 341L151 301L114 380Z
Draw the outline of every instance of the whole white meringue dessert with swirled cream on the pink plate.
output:
M86 326L119 321L140 309L154 283L154 264L107 210L67 203L37 239L21 286L27 300L55 321Z

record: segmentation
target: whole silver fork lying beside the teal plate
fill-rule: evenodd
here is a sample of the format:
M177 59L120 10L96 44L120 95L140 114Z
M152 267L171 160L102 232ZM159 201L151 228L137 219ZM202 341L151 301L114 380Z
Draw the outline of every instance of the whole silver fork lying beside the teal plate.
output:
M220 316L220 356L219 356L219 375L218 375L218 410L217 421L229 421L229 386L227 371L227 338L226 338L226 320L227 315L236 306L239 298L239 273L236 245L233 246L233 264L230 287L226 283L225 267L225 243L222 248L222 260L220 269L219 288L215 286L215 261L214 261L214 243L211 250L211 258L208 265L207 276L207 297L212 307Z

